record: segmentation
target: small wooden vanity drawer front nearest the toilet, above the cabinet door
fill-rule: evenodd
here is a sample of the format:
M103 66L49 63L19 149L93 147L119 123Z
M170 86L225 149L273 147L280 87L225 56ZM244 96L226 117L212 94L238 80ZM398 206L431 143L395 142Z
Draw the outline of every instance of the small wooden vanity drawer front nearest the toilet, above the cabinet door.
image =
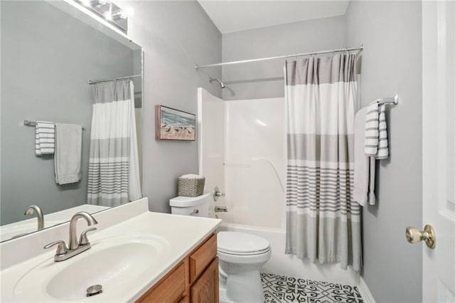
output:
M216 233L190 255L190 282L194 282L216 256Z

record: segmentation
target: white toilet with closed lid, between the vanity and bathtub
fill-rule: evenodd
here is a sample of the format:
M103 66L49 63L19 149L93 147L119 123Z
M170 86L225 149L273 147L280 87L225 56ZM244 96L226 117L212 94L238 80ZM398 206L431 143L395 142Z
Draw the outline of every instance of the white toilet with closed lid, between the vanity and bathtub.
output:
M198 197L176 197L169 201L174 214L208 216L210 193ZM270 243L250 233L218 233L220 302L264 302L259 270L272 255Z

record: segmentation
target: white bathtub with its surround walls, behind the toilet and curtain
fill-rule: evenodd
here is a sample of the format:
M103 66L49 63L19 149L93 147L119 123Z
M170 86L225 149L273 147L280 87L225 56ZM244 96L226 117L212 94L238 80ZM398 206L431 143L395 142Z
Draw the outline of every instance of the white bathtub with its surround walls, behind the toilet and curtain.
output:
M284 98L224 101L200 88L198 127L199 174L205 176L207 190L218 185L226 194L216 203L210 198L210 216L215 206L228 207L227 213L216 213L223 219L220 230L267 239L272 257L263 267L266 272L358 285L359 273L352 267L342 270L339 264L314 264L284 254L286 197L272 165L259 159L270 160L286 180Z

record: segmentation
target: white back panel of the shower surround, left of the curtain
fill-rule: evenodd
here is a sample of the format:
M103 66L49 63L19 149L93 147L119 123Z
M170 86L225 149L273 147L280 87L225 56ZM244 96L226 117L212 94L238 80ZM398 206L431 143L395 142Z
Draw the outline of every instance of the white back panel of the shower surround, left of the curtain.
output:
M227 101L225 203L229 223L284 228L284 98Z

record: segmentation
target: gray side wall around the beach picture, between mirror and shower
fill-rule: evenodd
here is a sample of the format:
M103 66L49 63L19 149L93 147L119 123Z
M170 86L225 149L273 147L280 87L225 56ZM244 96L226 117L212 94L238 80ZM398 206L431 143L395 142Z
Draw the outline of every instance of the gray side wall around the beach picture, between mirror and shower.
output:
M196 1L127 1L135 14L129 35L144 48L143 193L151 211L170 212L178 176L198 172L197 142L155 141L155 105L197 113L197 87L220 97L221 34ZM196 137L197 137L196 133Z

